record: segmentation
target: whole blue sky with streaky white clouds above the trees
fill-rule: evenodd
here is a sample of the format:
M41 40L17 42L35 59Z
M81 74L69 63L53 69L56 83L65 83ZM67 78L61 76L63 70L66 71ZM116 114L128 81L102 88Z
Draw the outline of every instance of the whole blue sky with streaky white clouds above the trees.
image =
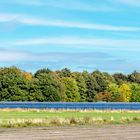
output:
M0 67L140 71L140 0L0 0Z

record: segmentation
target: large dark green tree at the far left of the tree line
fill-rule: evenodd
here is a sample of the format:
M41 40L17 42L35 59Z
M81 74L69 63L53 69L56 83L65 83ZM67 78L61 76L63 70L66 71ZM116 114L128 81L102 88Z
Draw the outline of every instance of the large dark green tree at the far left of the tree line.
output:
M28 94L28 80L23 72L16 68L3 68L0 70L0 100L26 101Z

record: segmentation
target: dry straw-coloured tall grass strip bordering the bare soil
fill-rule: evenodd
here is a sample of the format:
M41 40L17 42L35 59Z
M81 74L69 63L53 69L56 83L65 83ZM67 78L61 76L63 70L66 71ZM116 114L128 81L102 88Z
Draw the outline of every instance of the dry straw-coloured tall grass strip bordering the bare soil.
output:
M0 127L32 127L32 126L75 126L75 125L102 125L102 124L128 124L140 123L140 117L122 117L120 120L103 118L55 118L55 119L10 119L0 120Z

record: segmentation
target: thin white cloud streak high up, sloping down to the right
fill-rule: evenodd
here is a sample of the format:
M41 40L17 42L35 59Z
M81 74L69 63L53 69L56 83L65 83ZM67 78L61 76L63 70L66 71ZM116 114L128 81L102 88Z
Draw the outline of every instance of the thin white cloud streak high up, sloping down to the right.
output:
M20 14L0 14L0 22L16 22L29 26L52 26L105 31L140 31L139 27L114 26L96 23L69 22L64 20L47 20Z

